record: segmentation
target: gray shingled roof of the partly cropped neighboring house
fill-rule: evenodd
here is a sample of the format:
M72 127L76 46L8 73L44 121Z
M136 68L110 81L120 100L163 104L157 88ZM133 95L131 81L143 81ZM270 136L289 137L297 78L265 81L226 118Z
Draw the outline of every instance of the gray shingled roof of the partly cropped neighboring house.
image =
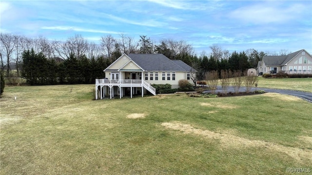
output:
M293 57L295 57L298 53L303 50L290 53L288 55L279 55L279 56L263 56L262 60L264 61L266 66L282 66L286 65Z

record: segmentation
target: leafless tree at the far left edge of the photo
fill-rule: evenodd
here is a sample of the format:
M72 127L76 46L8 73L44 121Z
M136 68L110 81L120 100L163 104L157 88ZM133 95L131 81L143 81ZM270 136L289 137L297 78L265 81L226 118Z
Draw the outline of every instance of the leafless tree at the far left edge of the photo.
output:
M0 47L2 48L1 50L3 51L5 57L6 57L6 76L9 75L10 71L10 62L11 62L11 55L14 52L15 49L15 40L14 40L14 35L12 34L0 34Z

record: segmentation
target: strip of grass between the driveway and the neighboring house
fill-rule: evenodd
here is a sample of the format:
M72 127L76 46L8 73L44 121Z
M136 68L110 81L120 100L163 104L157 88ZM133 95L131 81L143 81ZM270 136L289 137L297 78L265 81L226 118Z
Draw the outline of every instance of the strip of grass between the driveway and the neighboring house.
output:
M258 87L291 89L312 92L312 78L262 78L258 77Z

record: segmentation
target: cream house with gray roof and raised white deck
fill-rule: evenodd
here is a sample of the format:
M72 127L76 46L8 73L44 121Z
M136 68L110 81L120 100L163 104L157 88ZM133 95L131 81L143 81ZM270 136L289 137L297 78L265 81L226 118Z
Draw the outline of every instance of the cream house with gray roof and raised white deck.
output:
M178 88L180 79L193 83L196 70L181 60L170 60L163 54L121 55L105 70L103 79L96 79L96 100L119 96L133 97L147 92L156 95L151 84L170 84Z

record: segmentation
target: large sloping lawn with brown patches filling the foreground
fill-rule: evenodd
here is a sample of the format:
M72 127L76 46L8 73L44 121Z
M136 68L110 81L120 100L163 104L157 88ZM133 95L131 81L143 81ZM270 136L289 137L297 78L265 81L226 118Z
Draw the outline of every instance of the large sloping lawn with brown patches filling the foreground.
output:
M0 174L267 175L312 168L312 104L299 98L95 101L93 89L6 87Z

